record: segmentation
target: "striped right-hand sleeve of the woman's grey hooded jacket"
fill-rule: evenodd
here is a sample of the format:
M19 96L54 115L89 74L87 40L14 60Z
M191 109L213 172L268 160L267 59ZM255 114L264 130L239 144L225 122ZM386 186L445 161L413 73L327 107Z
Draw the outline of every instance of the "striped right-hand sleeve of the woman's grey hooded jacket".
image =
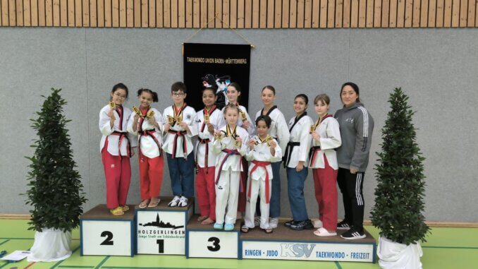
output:
M359 107L360 113L357 113L355 119L355 150L350 162L350 169L359 169L364 162L367 162L370 151L370 144L372 142L372 131L374 131L374 119L367 112L364 107Z

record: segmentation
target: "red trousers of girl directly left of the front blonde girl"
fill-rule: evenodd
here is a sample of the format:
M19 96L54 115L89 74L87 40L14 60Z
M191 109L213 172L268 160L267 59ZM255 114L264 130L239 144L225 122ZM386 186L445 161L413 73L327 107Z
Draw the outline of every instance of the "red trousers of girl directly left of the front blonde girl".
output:
M199 167L196 175L197 203L202 216L216 220L216 189L214 170L216 167Z

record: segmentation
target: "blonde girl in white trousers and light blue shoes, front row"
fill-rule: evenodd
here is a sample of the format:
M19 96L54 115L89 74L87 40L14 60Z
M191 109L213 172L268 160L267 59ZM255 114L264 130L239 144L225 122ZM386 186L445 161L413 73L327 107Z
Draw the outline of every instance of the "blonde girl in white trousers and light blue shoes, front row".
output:
M233 103L224 107L226 126L214 131L212 140L216 157L216 223L214 229L232 231L238 208L238 193L244 191L240 181L242 159L249 134L238 126L239 109ZM226 211L227 210L227 211Z

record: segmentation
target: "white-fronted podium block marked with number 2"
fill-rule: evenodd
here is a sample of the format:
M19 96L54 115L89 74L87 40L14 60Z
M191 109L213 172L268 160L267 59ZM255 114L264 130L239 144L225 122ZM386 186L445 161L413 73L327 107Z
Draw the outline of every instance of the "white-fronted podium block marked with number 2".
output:
M97 205L80 217L80 255L133 256L135 244L134 205L125 215L111 215L106 205Z

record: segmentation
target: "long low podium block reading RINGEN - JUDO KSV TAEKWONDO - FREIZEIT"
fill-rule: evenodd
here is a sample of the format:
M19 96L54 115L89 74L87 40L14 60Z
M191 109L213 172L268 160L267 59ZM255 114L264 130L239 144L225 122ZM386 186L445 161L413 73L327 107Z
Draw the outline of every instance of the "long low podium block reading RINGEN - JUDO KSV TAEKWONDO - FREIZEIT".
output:
M374 237L364 231L364 239L347 240L346 232L337 230L335 237L317 237L314 229L294 231L279 223L272 234L255 227L241 234L243 259L301 260L301 261L359 261L375 263Z

